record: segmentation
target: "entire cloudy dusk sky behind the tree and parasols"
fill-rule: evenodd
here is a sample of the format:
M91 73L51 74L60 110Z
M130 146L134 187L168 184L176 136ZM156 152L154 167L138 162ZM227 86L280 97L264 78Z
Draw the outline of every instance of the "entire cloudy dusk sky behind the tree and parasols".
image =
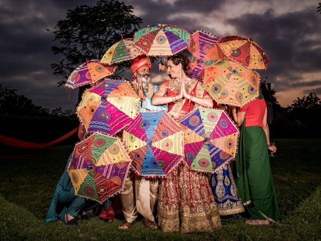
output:
M281 105L315 92L321 96L321 14L313 0L124 0L148 24L171 23L191 33L251 37L270 58L261 79L272 83ZM57 87L50 64L53 29L77 5L96 1L0 0L0 83L43 107L74 109L77 90ZM155 68L155 67L154 67ZM155 80L165 75L154 74Z

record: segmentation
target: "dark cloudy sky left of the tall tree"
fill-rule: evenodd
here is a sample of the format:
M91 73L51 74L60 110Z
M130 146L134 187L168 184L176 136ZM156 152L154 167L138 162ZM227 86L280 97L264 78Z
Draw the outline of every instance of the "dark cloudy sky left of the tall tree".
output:
M50 64L59 60L51 52L52 32L64 19L67 9L88 1L1 1L0 59L4 86L17 89L43 107L75 108L78 90L66 92L56 87L62 80L54 76Z

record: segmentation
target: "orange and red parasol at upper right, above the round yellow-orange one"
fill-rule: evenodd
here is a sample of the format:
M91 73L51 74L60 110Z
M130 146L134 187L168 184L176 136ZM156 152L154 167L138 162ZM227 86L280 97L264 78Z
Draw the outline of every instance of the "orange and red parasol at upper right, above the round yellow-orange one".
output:
M225 36L217 43L227 58L249 69L265 69L269 58L252 39L240 36Z

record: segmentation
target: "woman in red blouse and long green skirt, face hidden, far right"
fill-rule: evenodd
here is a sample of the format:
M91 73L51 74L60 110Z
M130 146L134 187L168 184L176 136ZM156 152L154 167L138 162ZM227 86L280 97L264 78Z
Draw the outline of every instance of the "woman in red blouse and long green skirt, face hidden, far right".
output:
M234 108L233 118L241 127L235 164L239 199L251 216L246 223L268 225L279 219L279 208L269 163L269 150L274 153L276 147L270 145L263 95Z

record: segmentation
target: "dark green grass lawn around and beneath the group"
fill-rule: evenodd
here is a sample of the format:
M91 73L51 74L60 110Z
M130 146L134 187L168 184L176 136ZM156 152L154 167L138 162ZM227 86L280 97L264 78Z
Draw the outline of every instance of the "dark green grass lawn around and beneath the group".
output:
M141 221L119 230L123 220L79 220L78 226L45 223L55 186L73 146L40 150L1 146L0 240L321 240L321 139L278 139L270 163L280 206L280 222L245 224L243 215L222 218L211 233L163 233Z

